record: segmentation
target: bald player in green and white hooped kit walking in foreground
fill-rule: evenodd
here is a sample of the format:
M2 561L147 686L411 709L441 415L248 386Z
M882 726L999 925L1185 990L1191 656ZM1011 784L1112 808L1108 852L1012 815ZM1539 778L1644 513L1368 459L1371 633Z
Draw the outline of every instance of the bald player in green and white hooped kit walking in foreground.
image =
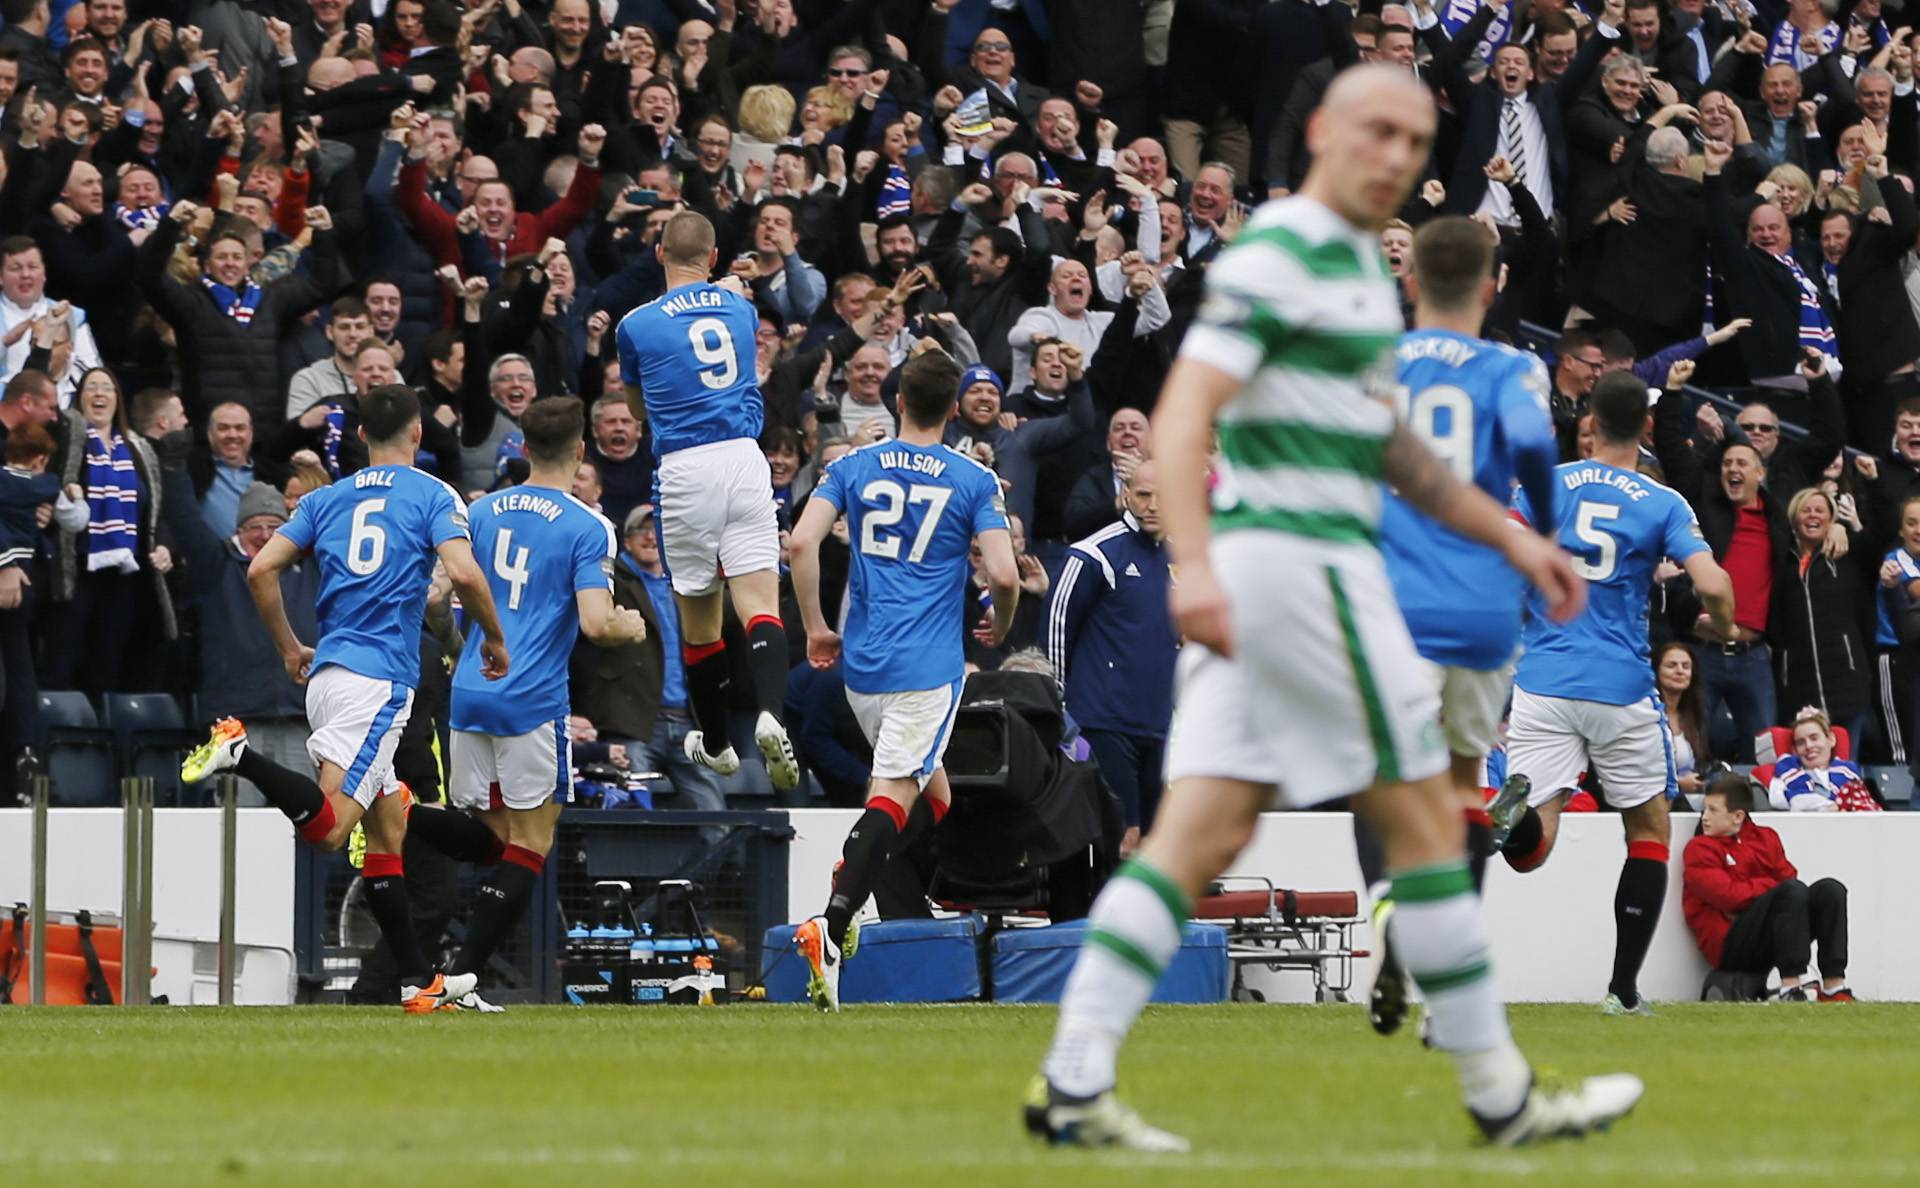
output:
M1421 512L1500 549L1557 618L1582 605L1569 558L1515 532L1500 503L1396 428L1369 392L1369 372L1400 334L1379 226L1405 200L1432 134L1432 98L1405 71L1342 73L1308 127L1306 184L1265 205L1213 263L1208 301L1160 395L1160 514L1179 566L1173 618L1187 637L1167 793L1139 854L1094 902L1027 1100L1029 1130L1052 1142L1187 1148L1119 1104L1116 1057L1179 950L1192 896L1246 846L1281 773L1296 806L1357 793L1386 846L1400 960L1490 1140L1580 1134L1640 1100L1640 1081L1624 1075L1567 1090L1534 1084L1513 1044L1438 704L1375 547L1384 476Z

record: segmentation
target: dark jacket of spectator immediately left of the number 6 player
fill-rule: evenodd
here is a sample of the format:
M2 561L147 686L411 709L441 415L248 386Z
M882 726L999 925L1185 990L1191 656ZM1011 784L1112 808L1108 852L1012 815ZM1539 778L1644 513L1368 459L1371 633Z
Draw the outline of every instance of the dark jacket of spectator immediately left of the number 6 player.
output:
M205 718L305 718L307 691L286 676L280 651L259 622L246 583L252 558L232 537L213 535L200 516L184 468L161 470L161 509L180 547L186 578L200 599L200 712ZM303 557L280 570L280 601L301 643L317 643L321 564Z

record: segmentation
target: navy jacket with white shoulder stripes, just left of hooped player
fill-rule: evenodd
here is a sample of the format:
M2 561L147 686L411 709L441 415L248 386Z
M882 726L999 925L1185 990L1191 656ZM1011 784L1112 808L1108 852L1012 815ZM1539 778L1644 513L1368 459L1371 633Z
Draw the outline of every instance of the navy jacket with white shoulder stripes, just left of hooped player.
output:
M1181 639L1167 618L1165 545L1127 512L1068 551L1046 614L1046 656L1083 729L1164 739Z

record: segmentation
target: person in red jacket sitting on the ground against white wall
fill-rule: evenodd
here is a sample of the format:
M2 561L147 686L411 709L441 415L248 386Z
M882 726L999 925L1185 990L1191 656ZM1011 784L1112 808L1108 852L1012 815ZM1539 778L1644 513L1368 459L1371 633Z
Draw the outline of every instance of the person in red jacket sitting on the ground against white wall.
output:
M1847 990L1847 887L1799 881L1780 835L1747 820L1747 777L1707 787L1701 833L1686 844L1686 927L1715 969L1780 969L1780 998L1807 1002L1801 981L1820 946L1820 1002L1853 1002Z

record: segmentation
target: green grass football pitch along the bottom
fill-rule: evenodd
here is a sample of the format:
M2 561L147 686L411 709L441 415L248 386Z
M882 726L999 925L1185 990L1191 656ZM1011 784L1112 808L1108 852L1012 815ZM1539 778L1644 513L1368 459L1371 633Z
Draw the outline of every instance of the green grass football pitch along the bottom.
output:
M1146 1157L1021 1130L1052 1008L12 1008L0 1184L1920 1184L1920 1006L1513 1019L1645 1100L1490 1150L1450 1061L1359 1008L1152 1008L1121 1088L1194 1153Z

